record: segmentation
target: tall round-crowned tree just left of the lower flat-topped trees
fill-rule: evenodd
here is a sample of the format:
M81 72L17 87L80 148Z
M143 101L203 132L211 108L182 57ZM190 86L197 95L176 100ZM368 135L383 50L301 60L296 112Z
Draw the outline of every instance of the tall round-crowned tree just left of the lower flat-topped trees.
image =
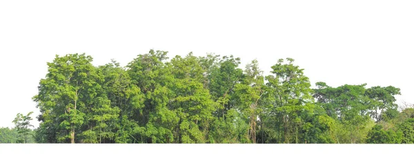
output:
M293 58L279 59L272 66L273 75L268 80L268 110L265 122L268 127L277 129L274 133L283 133L276 137L277 142L299 143L299 129L304 120L302 115L313 113L313 97L309 78L304 76L304 69L293 65Z

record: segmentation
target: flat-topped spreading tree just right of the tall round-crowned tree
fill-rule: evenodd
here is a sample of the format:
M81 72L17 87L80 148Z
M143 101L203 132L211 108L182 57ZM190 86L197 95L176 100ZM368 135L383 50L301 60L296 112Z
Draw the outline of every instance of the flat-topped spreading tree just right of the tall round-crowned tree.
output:
M342 85L329 87L326 83L317 83L318 89L313 95L317 105L326 110L326 114L339 120L342 124L342 139L340 142L364 142L368 131L373 127L370 114L374 99L366 96L366 84Z

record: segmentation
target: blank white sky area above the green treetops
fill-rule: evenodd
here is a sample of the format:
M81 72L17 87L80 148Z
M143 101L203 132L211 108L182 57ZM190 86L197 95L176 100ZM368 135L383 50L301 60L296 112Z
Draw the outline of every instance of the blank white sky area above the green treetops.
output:
M34 111L55 54L126 65L150 49L170 58L213 52L254 58L268 74L294 58L313 85L367 83L414 102L412 1L0 1L0 127Z

